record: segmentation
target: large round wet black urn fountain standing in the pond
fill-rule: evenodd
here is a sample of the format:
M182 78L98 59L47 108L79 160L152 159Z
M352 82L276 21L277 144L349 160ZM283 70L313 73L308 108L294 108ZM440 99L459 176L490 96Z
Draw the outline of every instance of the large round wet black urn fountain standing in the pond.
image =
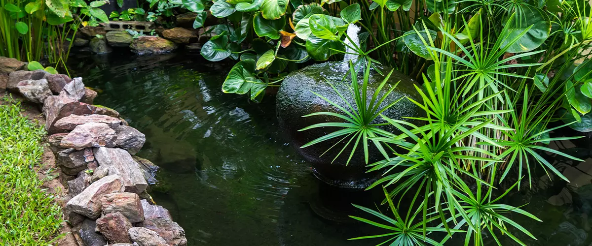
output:
M376 66L382 71L382 74L388 74L390 68ZM301 70L294 71L288 74L282 82L282 86L279 88L276 97L276 111L281 129L287 133L291 144L297 149L298 153L304 156L307 162L310 162L314 167L315 175L322 181L329 183L330 185L346 187L346 188L365 188L375 181L377 176L381 175L379 172L366 173L366 163L364 160L362 146L358 146L355 155L349 165L348 162L349 153L352 150L353 143L348 148L343 150L342 154L333 161L333 158L342 150L345 142L338 144L333 147L329 152L325 153L333 145L339 142L342 137L336 137L331 140L327 140L316 145L300 147L306 143L317 139L318 137L325 136L328 133L340 130L339 127L318 127L315 129L305 130L299 132L298 130L304 127L311 126L317 123L325 122L346 122L343 119L334 116L311 116L302 117L307 114L317 113L321 111L329 111L333 113L344 114L342 110L332 106L326 100L316 96L314 93L319 94L339 105L343 109L349 109L350 104L354 109L357 110L355 100L351 91L351 78L349 76L346 81L343 80L343 76L349 73L349 67L342 63L322 63L315 64L305 67ZM363 73L358 73L358 83L362 86ZM368 92L366 97L368 101L371 100L374 91L377 90L379 84L384 80L384 76L380 75L374 69L371 71L368 81ZM416 83L404 74L393 71L388 83L382 88L379 96L384 95L385 91L390 90L397 81L400 81L398 86L392 91L392 93L386 97L382 102L381 106L387 106L388 104L401 99L402 97L409 97L416 101L422 101L422 97L417 92L414 85ZM334 88L345 97L346 101L343 101L339 94L336 93ZM313 93L314 92L314 93ZM407 120L404 117L417 117L422 115L421 110L411 101L403 99L399 101L395 106L390 107L384 114L391 119L396 120ZM420 124L415 120L412 120L415 124ZM372 123L387 123L381 117L377 117ZM386 125L381 126L383 130L387 130L392 133L400 133L395 127ZM369 163L376 162L383 159L384 157L378 152L374 145L369 144L370 158Z

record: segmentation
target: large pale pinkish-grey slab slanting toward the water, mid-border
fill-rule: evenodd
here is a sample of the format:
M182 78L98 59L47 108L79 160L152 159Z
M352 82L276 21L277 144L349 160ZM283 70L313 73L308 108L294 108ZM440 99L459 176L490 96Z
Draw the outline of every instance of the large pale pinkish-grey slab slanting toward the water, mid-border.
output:
M99 147L94 149L95 158L99 166L107 166L109 174L117 174L124 184L124 191L140 193L146 190L148 183L140 166L131 158L130 153L123 149Z

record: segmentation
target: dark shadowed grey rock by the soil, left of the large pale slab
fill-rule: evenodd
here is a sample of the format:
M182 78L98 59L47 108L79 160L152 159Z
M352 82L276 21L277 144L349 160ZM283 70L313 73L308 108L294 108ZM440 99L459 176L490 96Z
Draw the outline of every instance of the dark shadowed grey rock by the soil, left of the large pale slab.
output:
M57 152L56 163L67 175L76 175L88 168L88 164L94 161L92 150L88 148L84 150L66 149Z

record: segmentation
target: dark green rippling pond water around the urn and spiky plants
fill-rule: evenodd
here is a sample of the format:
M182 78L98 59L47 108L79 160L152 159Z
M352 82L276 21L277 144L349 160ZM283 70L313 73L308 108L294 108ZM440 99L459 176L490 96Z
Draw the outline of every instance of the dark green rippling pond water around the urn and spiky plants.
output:
M127 53L69 63L73 75L99 92L96 104L119 111L146 134L138 155L161 167L150 193L185 229L188 245L375 245L347 239L386 233L347 217L368 218L350 203L374 207L380 191L343 191L313 177L278 128L273 91L260 104L222 93L231 64L209 63L199 54ZM532 189L523 182L505 199L527 204L523 208L543 220L511 216L538 240L516 235L527 245L591 245L592 141L552 145L587 162L548 156L571 183L549 181L538 169Z

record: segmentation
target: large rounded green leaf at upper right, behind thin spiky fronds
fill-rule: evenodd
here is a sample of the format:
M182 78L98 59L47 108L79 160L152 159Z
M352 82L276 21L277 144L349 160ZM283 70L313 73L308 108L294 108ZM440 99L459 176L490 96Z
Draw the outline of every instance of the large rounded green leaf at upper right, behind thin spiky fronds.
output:
M532 26L525 35L523 35L514 44L510 44L515 37ZM520 11L511 18L509 24L504 28L507 38L504 39L501 47L508 47L506 52L522 53L538 48L549 37L551 32L551 21L541 9L530 5L521 5ZM506 37L503 34L502 37Z

